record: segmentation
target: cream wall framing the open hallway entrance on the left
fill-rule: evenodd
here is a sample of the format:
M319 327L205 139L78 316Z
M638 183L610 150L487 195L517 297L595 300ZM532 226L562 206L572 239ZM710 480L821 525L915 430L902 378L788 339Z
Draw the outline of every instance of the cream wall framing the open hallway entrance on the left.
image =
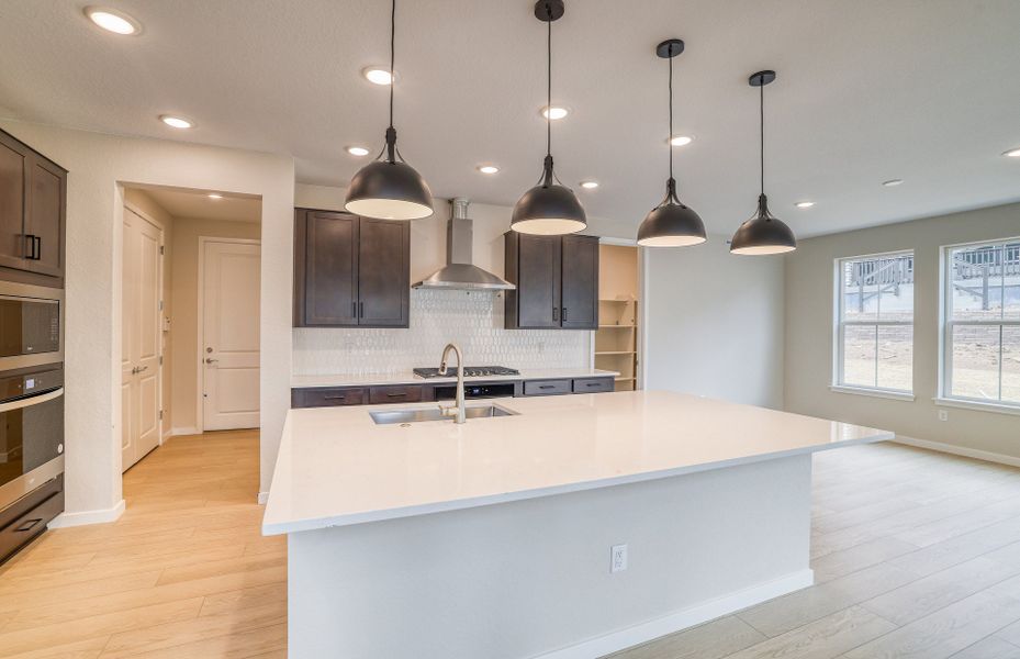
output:
M68 520L112 516L122 502L121 183L262 198L260 470L266 490L290 399L293 159L10 120L0 120L0 127L70 171L65 346Z

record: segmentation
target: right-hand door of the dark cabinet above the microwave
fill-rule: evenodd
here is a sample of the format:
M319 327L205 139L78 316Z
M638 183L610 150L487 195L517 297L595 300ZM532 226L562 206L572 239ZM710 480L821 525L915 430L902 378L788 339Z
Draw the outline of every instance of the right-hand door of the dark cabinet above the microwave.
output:
M32 157L29 163L25 234L34 245L29 246L32 258L27 261L27 269L52 277L64 277L67 174L38 157Z

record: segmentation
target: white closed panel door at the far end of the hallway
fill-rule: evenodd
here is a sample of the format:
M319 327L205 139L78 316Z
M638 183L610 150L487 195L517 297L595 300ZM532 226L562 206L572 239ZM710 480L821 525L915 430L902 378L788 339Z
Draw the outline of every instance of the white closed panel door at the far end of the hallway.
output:
M206 239L202 252L202 421L258 427L259 245Z

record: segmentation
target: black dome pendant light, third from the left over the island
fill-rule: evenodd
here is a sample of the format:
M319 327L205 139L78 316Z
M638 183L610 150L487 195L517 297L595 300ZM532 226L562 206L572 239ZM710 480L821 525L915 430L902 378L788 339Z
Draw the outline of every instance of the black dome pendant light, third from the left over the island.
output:
M691 208L676 198L676 179L673 178L673 58L684 52L684 42L670 38L655 47L655 54L670 63L670 178L665 182L665 198L652 209L638 227L638 245L642 247L684 247L705 242L705 223Z

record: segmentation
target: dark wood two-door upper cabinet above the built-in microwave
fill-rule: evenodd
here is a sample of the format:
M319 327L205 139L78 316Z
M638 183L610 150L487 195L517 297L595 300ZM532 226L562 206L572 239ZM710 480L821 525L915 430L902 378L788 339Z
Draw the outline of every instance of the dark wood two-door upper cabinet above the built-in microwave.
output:
M0 131L0 276L64 286L67 171Z

